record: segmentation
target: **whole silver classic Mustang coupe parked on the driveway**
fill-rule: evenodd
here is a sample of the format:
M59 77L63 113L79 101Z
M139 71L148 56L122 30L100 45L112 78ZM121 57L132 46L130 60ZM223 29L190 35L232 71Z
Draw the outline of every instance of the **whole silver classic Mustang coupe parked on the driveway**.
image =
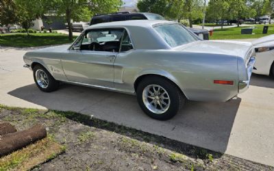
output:
M143 111L168 120L186 99L228 101L249 86L251 43L203 41L171 21L92 25L71 45L27 52L43 92L60 82L136 94Z

